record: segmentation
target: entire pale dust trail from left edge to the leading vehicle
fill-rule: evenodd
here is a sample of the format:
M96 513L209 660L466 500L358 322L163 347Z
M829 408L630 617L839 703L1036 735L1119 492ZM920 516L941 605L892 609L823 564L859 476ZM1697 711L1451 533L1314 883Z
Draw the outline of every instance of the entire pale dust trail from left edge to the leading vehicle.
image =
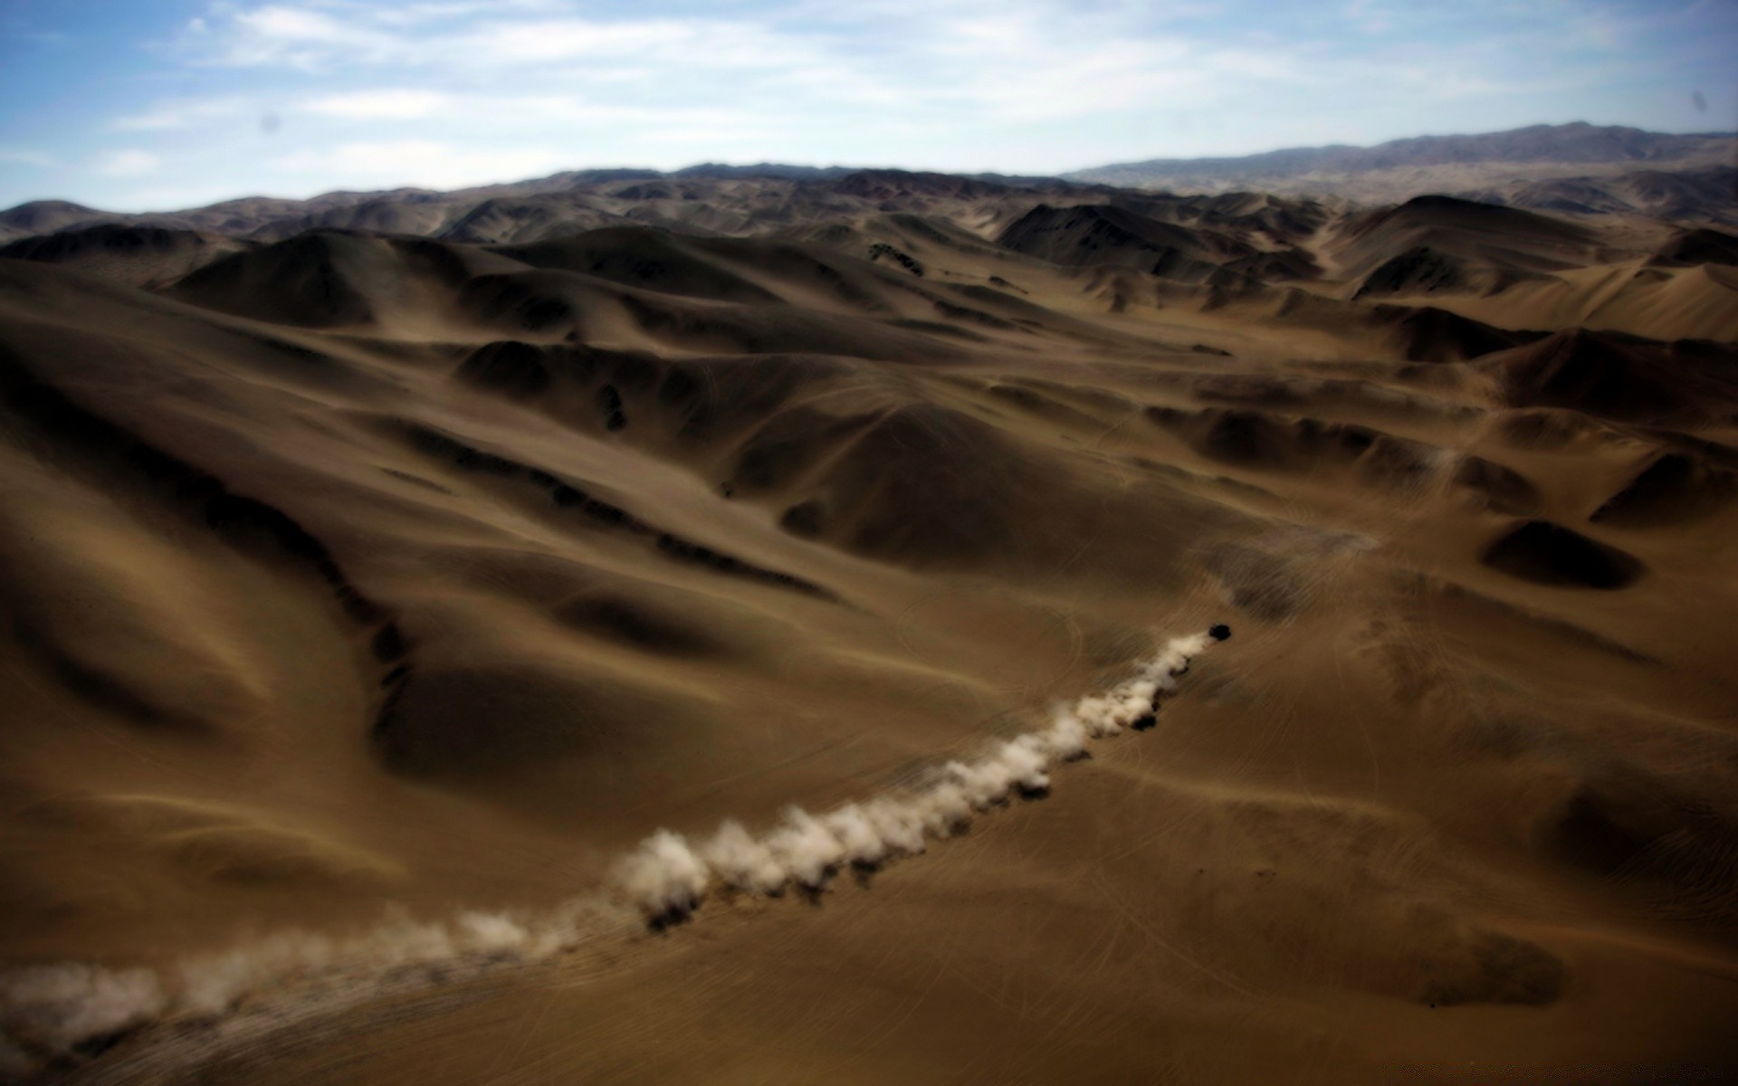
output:
M1189 662L1229 636L1215 626L1175 638L1118 686L1057 707L1046 726L978 758L935 766L914 787L822 815L791 806L760 836L735 820L700 844L660 829L617 864L605 893L535 916L396 914L362 935L289 931L167 970L14 968L0 973L0 1083L73 1069L106 1070L115 1081L184 1072L262 1034L382 996L586 950L601 961L645 924L681 919L713 893L820 891L846 865L918 855L1013 794L1046 792L1055 765L1081 758L1093 738L1151 723ZM123 1063L89 1063L134 1034L139 1044Z

